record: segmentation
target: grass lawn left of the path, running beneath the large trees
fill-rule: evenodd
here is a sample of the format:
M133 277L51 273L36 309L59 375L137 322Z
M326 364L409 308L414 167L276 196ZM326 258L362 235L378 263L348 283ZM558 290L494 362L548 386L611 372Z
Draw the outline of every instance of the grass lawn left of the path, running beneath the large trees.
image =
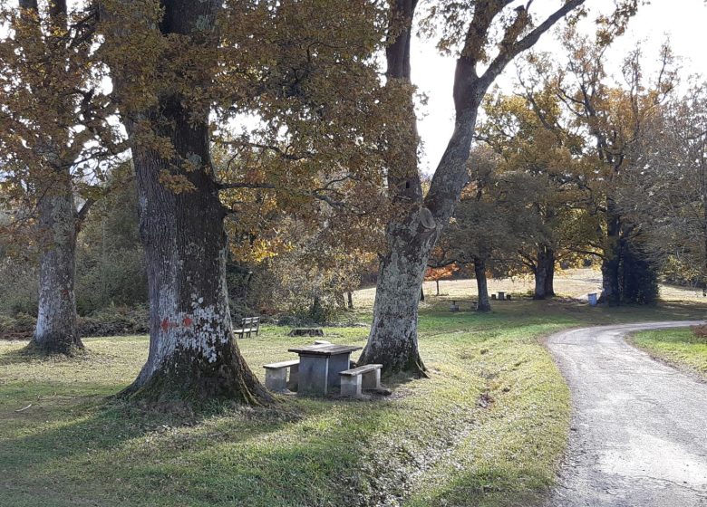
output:
M554 480L570 410L539 339L702 314L696 305L504 301L479 315L448 304L429 297L422 306L430 378L383 379L392 396L368 402L280 397L267 409L159 413L110 397L137 375L146 337L86 339L85 356L63 360L27 359L23 343L0 343L0 505L533 505ZM370 320L370 307L354 319ZM238 340L258 375L312 340L286 331ZM363 345L367 330L325 333Z

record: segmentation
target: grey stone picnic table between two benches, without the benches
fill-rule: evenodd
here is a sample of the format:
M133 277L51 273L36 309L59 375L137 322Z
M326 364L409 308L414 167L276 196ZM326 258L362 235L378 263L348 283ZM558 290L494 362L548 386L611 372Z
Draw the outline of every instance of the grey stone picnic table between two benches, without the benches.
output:
M341 387L339 373L349 369L349 357L354 350L363 347L353 345L307 345L288 349L299 355L299 386L297 394L323 396L332 387Z

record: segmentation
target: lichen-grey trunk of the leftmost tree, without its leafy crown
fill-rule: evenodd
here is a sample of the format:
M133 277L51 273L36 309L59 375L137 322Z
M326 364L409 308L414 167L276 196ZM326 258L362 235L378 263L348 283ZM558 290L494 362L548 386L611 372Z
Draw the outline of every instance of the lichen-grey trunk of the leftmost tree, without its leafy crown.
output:
M83 349L76 329L76 215L68 174L53 182L38 203L43 252L39 273L37 326L30 348L73 354Z

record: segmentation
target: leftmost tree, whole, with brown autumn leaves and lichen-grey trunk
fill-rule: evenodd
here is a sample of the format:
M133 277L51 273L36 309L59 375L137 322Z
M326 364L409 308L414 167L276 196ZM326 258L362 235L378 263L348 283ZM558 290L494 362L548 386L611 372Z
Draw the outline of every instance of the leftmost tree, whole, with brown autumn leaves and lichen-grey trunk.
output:
M65 0L3 3L0 44L0 182L16 241L34 236L39 302L31 348L82 349L74 295L76 234L100 196L105 166L120 151L92 51L95 10ZM6 228L5 231L8 229Z

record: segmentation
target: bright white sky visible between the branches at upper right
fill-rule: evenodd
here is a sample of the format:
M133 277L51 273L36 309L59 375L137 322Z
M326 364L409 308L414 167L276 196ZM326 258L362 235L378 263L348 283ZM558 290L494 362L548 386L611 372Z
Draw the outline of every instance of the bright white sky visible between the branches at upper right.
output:
M605 12L613 0L587 0L586 4ZM556 8L555 0L536 0L535 11ZM547 11L546 11L547 12ZM587 24L586 28L589 28ZM661 44L670 38L673 53L680 58L681 77L702 74L707 79L707 5L703 0L652 0L643 5L631 20L629 29L607 52L607 67L619 71L619 64L626 53L640 46L644 54L644 69L654 69ZM545 33L536 45L543 52L559 53L552 31ZM422 139L421 170L431 174L439 162L454 128L454 105L451 99L454 78L454 58L442 57L434 42L416 37L412 42L412 81L428 98L426 106L419 108L418 130ZM513 85L515 69L509 65L499 78L499 85L509 91Z

